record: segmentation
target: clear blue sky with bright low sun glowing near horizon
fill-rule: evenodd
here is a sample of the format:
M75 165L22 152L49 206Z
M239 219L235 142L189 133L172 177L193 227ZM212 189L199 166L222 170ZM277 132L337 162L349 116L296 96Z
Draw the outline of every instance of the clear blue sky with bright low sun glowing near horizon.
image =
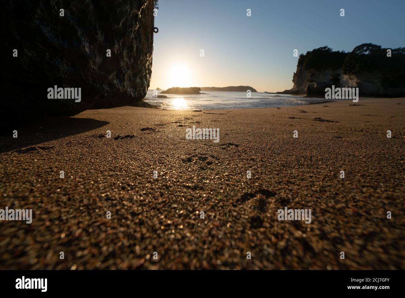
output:
M149 89L276 92L293 86L294 49L405 47L405 0L159 0L155 26Z

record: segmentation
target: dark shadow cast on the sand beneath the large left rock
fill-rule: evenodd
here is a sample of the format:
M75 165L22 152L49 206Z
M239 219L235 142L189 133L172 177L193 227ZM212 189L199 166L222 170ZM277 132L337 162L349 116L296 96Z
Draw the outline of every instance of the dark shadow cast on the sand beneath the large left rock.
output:
M81 134L107 125L109 122L89 118L49 117L38 123L17 129L18 137L13 132L0 136L0 153L58 140L66 136Z

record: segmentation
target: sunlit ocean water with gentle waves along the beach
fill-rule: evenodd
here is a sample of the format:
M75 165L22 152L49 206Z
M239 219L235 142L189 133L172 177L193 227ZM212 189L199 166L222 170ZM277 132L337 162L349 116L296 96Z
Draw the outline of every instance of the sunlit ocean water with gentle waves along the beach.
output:
M145 102L166 110L221 110L249 109L271 106L295 106L311 102L322 102L324 98L303 98L287 94L252 92L250 98L245 92L201 91L207 94L161 94L167 98L153 97L148 90Z

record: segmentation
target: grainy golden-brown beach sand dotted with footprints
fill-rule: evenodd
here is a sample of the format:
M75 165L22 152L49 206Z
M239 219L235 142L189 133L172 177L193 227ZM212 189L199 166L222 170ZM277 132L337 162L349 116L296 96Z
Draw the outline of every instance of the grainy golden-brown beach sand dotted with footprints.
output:
M34 218L0 221L0 268L405 269L405 99L350 104L122 107L1 137L0 209Z

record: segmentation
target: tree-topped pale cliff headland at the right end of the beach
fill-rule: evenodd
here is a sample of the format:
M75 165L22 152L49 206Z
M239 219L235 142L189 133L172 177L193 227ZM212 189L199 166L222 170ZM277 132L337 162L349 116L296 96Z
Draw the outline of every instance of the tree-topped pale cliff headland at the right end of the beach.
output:
M389 52L389 53L388 53ZM324 96L325 88L358 87L360 96L405 96L405 48L384 49L366 43L350 53L321 47L301 54L294 87L284 94Z

